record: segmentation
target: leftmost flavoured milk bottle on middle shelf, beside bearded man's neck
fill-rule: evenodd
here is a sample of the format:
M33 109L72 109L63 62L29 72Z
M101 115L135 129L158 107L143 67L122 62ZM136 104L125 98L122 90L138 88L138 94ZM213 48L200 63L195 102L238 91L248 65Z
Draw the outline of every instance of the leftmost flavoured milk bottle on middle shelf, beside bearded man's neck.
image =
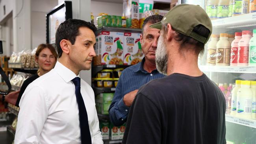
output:
M219 41L219 35L211 35L211 41L208 43L207 65L215 65L216 44L218 41Z

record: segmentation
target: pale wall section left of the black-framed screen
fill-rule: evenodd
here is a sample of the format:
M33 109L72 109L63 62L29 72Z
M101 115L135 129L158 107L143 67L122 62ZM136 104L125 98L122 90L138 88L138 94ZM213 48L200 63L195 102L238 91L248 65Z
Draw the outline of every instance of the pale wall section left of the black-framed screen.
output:
M32 48L46 43L46 13L58 5L58 0L32 0L31 28Z

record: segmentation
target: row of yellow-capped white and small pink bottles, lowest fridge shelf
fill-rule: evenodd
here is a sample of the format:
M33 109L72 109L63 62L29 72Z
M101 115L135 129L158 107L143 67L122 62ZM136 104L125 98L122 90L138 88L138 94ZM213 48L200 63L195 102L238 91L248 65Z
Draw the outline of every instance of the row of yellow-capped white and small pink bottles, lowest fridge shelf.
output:
M226 114L256 120L256 81L236 80L233 89L231 85L224 94L223 84L219 84L226 99Z

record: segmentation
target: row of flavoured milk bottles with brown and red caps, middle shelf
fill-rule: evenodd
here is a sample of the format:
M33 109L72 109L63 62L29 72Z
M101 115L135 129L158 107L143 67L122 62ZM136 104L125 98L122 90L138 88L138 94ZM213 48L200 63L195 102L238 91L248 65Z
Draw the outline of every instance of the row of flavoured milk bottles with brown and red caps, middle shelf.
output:
M256 66L256 30L211 35L207 65Z

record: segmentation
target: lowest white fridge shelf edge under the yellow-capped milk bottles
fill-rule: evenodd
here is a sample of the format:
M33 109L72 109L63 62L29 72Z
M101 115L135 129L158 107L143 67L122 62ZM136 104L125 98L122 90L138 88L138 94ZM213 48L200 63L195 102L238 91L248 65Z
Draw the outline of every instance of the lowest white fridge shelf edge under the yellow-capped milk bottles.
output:
M243 126L256 128L256 120L247 120L245 118L238 118L236 116L230 116L226 114L226 122L232 122L234 124L240 124Z

